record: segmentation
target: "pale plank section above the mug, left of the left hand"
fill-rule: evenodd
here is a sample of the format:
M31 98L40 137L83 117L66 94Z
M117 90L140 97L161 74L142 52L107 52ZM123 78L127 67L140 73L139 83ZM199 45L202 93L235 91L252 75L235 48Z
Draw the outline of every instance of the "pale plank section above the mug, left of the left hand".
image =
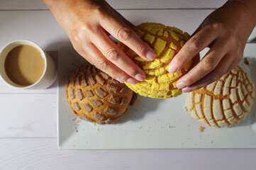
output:
M46 51L70 45L64 30L50 11L0 11L0 48L12 40L32 40Z

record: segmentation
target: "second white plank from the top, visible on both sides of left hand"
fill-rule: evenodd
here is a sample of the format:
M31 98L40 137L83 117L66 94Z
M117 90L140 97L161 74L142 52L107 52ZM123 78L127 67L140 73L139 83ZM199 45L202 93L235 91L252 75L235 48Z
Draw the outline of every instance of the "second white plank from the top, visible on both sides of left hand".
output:
M118 10L132 23L164 23L189 33L213 10ZM47 51L57 51L59 45L71 45L64 30L50 11L0 11L0 48L17 39L37 42Z

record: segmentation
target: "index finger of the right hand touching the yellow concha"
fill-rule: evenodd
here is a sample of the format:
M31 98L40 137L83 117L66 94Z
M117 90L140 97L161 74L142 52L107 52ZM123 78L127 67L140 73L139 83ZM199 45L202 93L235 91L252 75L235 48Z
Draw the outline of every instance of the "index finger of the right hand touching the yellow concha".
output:
M169 64L168 71L170 73L178 72L182 69L189 60L197 55L201 50L213 42L218 36L217 31L213 31L211 27L199 30L192 38L190 38L182 49L174 56L172 62Z

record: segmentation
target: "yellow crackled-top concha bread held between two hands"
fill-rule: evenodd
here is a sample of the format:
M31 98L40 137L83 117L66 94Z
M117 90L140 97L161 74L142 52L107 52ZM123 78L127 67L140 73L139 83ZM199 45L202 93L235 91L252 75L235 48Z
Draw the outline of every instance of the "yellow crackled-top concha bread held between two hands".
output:
M160 23L142 23L134 30L143 41L152 47L156 58L153 61L143 60L133 50L125 50L126 54L146 74L145 81L140 81L135 85L126 82L126 85L141 96L152 98L170 98L182 94L182 90L176 87L177 80L199 62L199 55L196 55L182 70L174 74L168 72L168 67L172 58L189 40L190 35L178 28L164 26ZM119 45L122 47L121 42Z

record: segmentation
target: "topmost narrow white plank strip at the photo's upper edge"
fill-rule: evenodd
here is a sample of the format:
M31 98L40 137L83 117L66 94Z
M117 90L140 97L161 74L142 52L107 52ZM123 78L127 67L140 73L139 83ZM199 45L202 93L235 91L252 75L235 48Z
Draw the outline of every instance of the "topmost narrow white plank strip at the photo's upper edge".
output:
M150 9L150 8L218 8L225 0L107 0L116 9ZM48 10L41 1L1 0L0 10Z

